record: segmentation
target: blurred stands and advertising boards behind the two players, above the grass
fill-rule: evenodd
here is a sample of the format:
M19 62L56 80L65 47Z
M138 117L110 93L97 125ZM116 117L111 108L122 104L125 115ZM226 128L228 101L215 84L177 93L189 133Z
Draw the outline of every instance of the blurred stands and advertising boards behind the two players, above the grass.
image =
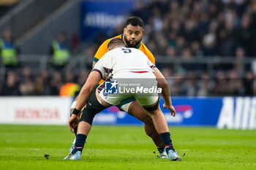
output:
M165 111L170 125L256 128L256 1L16 0L1 1L0 14L0 35L12 31L19 60L12 68L1 61L0 105L11 112L1 123L67 123L72 98L58 97L67 96L61 88L74 83L74 93L83 85L99 45L136 15L170 84L178 112ZM56 68L50 47L60 33L72 55ZM115 107L95 123L141 124Z

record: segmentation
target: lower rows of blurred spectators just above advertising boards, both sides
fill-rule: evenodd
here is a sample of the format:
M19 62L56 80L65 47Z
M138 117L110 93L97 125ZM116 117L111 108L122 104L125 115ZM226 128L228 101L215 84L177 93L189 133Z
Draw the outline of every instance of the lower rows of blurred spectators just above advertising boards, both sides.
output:
M208 73L200 77L196 72L172 74L167 67L161 71L170 84L172 96L253 96L256 91L252 72L246 72L242 78L237 78L236 72L218 72L213 78ZM7 72L6 81L0 83L0 96L59 96L65 83L75 82L82 87L88 75L87 70L79 75L71 70L53 73L44 70L34 75L25 67L22 72Z

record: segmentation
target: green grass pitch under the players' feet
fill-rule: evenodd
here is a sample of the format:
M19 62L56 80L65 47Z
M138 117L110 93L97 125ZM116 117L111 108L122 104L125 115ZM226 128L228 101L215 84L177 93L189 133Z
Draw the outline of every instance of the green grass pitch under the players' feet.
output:
M101 125L93 126L80 161L63 161L74 139L67 126L0 125L0 169L256 169L256 131L170 132L180 162L157 158L142 126Z

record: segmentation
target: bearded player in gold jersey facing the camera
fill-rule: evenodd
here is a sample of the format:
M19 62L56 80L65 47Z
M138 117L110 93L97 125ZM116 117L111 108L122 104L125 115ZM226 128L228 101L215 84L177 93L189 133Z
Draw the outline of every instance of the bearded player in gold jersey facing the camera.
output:
M141 50L152 63L155 63L154 55L152 55L152 53L148 50L146 45L144 45L143 42L141 42L141 39L143 37L143 32L144 32L143 26L144 26L143 20L141 20L140 18L135 16L131 18L127 18L127 21L125 22L125 25L124 25L123 34L120 34L113 38L123 39L126 47L135 47L138 50ZM93 62L92 68L94 68L94 65L97 63L97 61L99 61L99 59L102 58L103 55L105 55L105 53L108 52L108 42L110 42L110 40L113 38L105 40L105 42L103 42L102 45L100 45L100 47L97 50L97 53L95 53L94 55L94 62ZM99 83L104 82L104 80L105 78L103 78ZM102 90L102 87L101 86L97 87L97 90ZM95 91L93 91L92 93L95 93ZM76 103L76 100L72 103L72 107L70 109L70 116L72 115L73 109L75 109L75 103ZM156 145L157 150L159 152L159 158L167 158L167 154L165 152L165 146L159 134L157 133L156 128L154 127L154 123L151 117L148 115L148 112L146 111L146 109L143 109L143 107L138 103L138 101L136 101L134 97L124 98L124 100L122 100L116 107L118 107L120 111L127 112L129 115L136 117L138 120L144 123L144 130ZM87 122L89 123L93 122L94 115L86 115L86 117L87 117ZM77 134L77 129L78 127L74 128L75 135ZM75 140L69 149L69 153L72 152L72 150L74 149L74 146L75 146Z

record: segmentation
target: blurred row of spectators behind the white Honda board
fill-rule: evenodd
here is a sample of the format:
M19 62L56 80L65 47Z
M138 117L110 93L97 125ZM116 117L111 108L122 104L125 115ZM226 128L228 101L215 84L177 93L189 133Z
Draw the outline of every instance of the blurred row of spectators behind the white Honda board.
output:
M82 87L88 75L87 70L80 72L79 76L70 70L43 70L34 75L29 67L24 67L22 72L7 72L6 81L0 83L0 96L59 96L63 85L75 82Z

